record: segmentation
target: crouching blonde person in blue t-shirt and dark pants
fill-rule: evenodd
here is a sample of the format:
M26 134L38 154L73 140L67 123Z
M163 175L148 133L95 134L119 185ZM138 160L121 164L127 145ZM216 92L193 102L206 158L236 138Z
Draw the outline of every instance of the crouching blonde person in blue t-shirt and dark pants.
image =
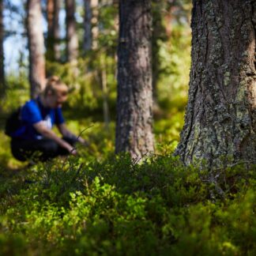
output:
M62 116L62 104L67 100L68 88L58 77L50 77L44 91L36 100L21 107L21 127L13 134L11 150L17 160L38 158L45 161L55 156L76 155L74 144L85 143L67 129ZM62 137L52 126L56 125ZM35 160L35 158L33 158Z

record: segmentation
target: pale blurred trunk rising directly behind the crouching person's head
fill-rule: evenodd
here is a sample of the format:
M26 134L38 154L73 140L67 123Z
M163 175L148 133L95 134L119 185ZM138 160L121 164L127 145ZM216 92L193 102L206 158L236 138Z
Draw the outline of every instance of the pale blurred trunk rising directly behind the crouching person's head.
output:
M28 0L27 3L30 96L34 99L45 83L43 17L40 0Z

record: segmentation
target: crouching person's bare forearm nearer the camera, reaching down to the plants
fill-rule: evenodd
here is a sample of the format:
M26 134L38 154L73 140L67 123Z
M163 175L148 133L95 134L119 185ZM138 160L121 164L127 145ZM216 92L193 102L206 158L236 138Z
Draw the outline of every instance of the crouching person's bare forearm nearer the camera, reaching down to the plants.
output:
M58 137L58 135L55 134L54 131L48 129L47 126L44 125L43 121L36 122L33 126L40 134L43 135L43 137L47 137L51 140L54 140L55 142L58 143L58 145L60 145L64 149L67 149L73 155L77 153L76 150L73 149L72 145L62 140L62 138Z

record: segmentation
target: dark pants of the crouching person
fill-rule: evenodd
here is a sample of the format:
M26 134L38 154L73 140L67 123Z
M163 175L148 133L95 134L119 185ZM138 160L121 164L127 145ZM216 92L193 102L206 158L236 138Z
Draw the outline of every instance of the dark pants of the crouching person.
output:
M62 139L70 145L74 145L75 142L77 142L76 138L63 137ZM11 141L11 149L13 156L20 161L31 159L46 161L56 156L66 156L69 154L68 150L47 138L33 141L13 138Z

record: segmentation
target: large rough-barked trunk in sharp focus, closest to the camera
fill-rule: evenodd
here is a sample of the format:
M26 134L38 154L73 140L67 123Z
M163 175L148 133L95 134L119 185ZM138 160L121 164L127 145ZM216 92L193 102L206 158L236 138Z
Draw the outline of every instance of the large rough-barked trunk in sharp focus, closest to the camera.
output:
M185 126L176 154L210 167L256 160L254 0L194 0Z

